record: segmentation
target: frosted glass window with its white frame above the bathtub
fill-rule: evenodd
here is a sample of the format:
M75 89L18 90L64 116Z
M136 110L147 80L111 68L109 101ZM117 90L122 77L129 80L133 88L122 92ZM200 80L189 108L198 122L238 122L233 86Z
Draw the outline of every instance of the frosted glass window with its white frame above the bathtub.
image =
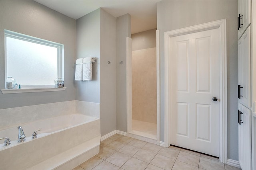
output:
M5 78L21 88L51 88L64 79L64 45L4 30Z

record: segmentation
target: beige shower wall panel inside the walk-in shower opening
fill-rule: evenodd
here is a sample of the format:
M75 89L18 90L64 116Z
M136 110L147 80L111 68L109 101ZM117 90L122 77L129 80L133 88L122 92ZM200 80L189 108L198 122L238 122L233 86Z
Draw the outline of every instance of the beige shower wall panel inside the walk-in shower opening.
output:
M156 123L156 47L132 51L132 119Z

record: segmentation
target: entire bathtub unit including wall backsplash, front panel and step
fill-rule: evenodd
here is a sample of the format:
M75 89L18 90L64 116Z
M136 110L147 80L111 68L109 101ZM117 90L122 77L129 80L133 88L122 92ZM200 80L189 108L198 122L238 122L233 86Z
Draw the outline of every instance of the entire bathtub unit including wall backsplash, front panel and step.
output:
M0 137L11 139L8 146L0 140L0 169L70 170L90 159L99 152L99 111L100 104L82 101L0 109ZM21 143L18 126L26 134Z

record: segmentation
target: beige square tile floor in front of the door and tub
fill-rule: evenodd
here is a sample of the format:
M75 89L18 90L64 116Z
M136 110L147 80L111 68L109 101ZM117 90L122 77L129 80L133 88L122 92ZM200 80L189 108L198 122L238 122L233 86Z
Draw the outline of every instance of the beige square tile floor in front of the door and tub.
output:
M217 158L122 135L100 143L100 152L73 170L240 170Z

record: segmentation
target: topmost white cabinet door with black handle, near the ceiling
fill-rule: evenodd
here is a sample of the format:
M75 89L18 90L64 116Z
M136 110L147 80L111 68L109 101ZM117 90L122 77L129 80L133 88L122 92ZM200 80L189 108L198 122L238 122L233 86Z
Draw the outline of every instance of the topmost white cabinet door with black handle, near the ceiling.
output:
M251 23L251 0L238 0L238 39Z

